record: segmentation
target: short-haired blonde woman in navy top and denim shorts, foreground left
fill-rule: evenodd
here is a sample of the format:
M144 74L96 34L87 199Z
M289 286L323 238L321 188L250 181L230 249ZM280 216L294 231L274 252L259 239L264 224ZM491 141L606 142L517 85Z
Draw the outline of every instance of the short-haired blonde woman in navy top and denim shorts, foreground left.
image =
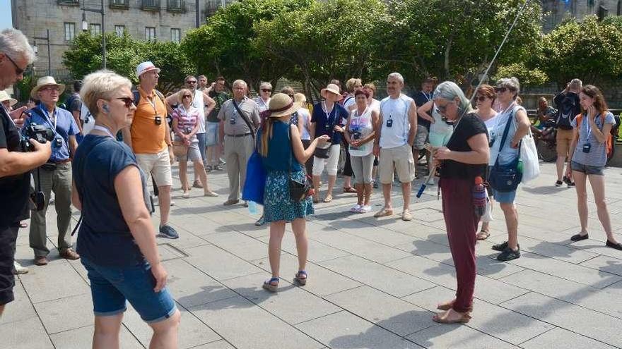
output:
M95 126L74 157L71 201L82 211L78 250L93 298L93 348L119 348L128 300L153 329L150 348L177 348L181 315L165 287L146 176L131 149L115 139L134 118L131 82L98 71L84 79L81 98Z

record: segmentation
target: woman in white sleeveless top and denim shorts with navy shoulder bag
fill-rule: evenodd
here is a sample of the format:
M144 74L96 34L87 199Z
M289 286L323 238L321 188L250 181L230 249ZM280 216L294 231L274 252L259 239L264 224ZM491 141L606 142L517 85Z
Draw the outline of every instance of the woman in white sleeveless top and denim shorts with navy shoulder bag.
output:
M518 148L522 137L529 133L532 123L527 117L527 111L518 105L516 99L520 92L520 83L517 78L503 78L497 81L495 87L497 99L500 105L500 113L497 115L497 122L491 130L491 159L489 166L494 166L498 160L500 165L510 164L519 156ZM503 147L501 142L506 125L510 128ZM510 192L500 192L493 188L493 196L499 202L503 215L505 216L505 226L507 228L507 241L493 245L493 250L500 251L497 259L504 262L520 257L520 247L518 245L518 212L514 205L516 190Z

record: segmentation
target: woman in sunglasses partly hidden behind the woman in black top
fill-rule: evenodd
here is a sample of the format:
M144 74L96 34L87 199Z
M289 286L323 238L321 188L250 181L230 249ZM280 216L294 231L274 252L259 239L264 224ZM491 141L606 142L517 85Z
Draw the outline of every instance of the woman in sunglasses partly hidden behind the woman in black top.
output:
M495 93L495 87L491 85L481 85L475 92L475 113L488 130L488 135L491 134L493 128L497 124L497 111L493 109L493 104L497 94ZM490 185L486 187L486 212L481 216L481 230L477 233L477 240L486 240L491 235L490 224L493 220L491 214L493 209L493 190Z

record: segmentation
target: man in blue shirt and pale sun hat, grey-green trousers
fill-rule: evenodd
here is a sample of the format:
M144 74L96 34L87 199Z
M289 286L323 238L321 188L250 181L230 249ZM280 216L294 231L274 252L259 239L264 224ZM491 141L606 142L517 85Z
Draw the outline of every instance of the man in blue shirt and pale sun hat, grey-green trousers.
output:
M49 195L54 191L54 207L57 213L58 250L61 257L78 259L80 256L71 249L71 157L76 154L78 141L76 135L80 129L74 116L66 109L56 106L65 85L57 84L51 76L44 76L30 92L30 97L41 103L30 110L22 133L29 125L41 125L52 129L52 156L47 162L33 171L35 191L42 192L43 207L31 211L30 247L35 252L35 265L46 265L49 249L47 248L47 229L45 213L49 204Z

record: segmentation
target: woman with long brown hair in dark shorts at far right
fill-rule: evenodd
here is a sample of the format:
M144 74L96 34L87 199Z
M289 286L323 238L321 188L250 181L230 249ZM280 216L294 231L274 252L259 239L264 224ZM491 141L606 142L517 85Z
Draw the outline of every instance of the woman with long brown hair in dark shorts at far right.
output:
M587 234L587 188L586 179L592 185L594 203L598 219L607 235L606 247L622 250L622 244L616 241L611 218L605 199L604 166L607 161L607 142L611 137L611 128L616 125L614 114L607 109L607 104L600 90L593 85L585 85L579 93L582 114L570 123L575 128L573 141L570 143L570 157L566 177L574 178L577 188L577 208L581 231L570 240L580 241L589 238ZM570 177L572 169L572 177Z

